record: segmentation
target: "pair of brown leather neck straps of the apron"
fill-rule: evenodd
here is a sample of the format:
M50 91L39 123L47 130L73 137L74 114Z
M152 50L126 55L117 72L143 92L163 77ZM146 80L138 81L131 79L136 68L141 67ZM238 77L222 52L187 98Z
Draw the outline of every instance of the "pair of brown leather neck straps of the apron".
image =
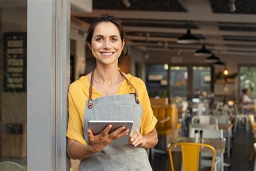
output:
M125 75L118 69L118 71L120 72L121 76L127 81L127 83L129 85L132 86L132 88L134 89L134 93L130 93L130 94L134 94L134 97L135 97L135 101L137 104L139 104L139 96L138 96L138 93L137 93L137 90L136 88L131 84L131 82L129 81L129 79L127 79L125 77ZM92 108L93 107L93 101L92 101L92 85L93 85L93 80L94 80L94 72L95 70L92 71L92 74L91 74L91 81L90 81L90 88L89 88L89 99L88 99L88 108Z

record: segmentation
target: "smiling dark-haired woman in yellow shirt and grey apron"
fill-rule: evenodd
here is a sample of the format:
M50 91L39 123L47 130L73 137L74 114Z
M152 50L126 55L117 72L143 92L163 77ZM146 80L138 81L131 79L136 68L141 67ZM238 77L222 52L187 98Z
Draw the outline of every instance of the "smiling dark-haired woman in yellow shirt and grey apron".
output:
M127 54L123 27L117 18L103 15L87 33L97 65L69 87L68 154L83 159L80 170L152 170L145 148L158 142L157 119L143 81L118 69L118 60ZM130 135L124 126L110 133L111 125L96 135L88 129L90 120L133 121L133 126ZM130 136L127 145L111 145L124 136Z

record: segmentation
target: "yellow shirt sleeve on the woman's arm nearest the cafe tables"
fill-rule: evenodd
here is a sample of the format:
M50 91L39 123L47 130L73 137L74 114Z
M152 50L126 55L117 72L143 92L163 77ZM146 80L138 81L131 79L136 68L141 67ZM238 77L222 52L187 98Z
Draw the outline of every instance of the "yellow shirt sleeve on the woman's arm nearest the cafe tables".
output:
M143 93L143 98L142 98L142 108L143 108L143 117L142 117L142 128L140 129L140 133L142 135L146 135L150 133L154 127L157 124L157 118L154 117L151 104L150 104L150 99L149 99L149 94L147 94L146 86L144 85L144 93Z

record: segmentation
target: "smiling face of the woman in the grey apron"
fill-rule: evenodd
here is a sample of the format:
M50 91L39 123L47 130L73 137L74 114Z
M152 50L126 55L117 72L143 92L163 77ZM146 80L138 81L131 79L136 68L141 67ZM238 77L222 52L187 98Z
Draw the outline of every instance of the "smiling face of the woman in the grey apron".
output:
M118 63L124 48L117 26L111 22L99 23L92 35L91 51L97 63L104 65Z

